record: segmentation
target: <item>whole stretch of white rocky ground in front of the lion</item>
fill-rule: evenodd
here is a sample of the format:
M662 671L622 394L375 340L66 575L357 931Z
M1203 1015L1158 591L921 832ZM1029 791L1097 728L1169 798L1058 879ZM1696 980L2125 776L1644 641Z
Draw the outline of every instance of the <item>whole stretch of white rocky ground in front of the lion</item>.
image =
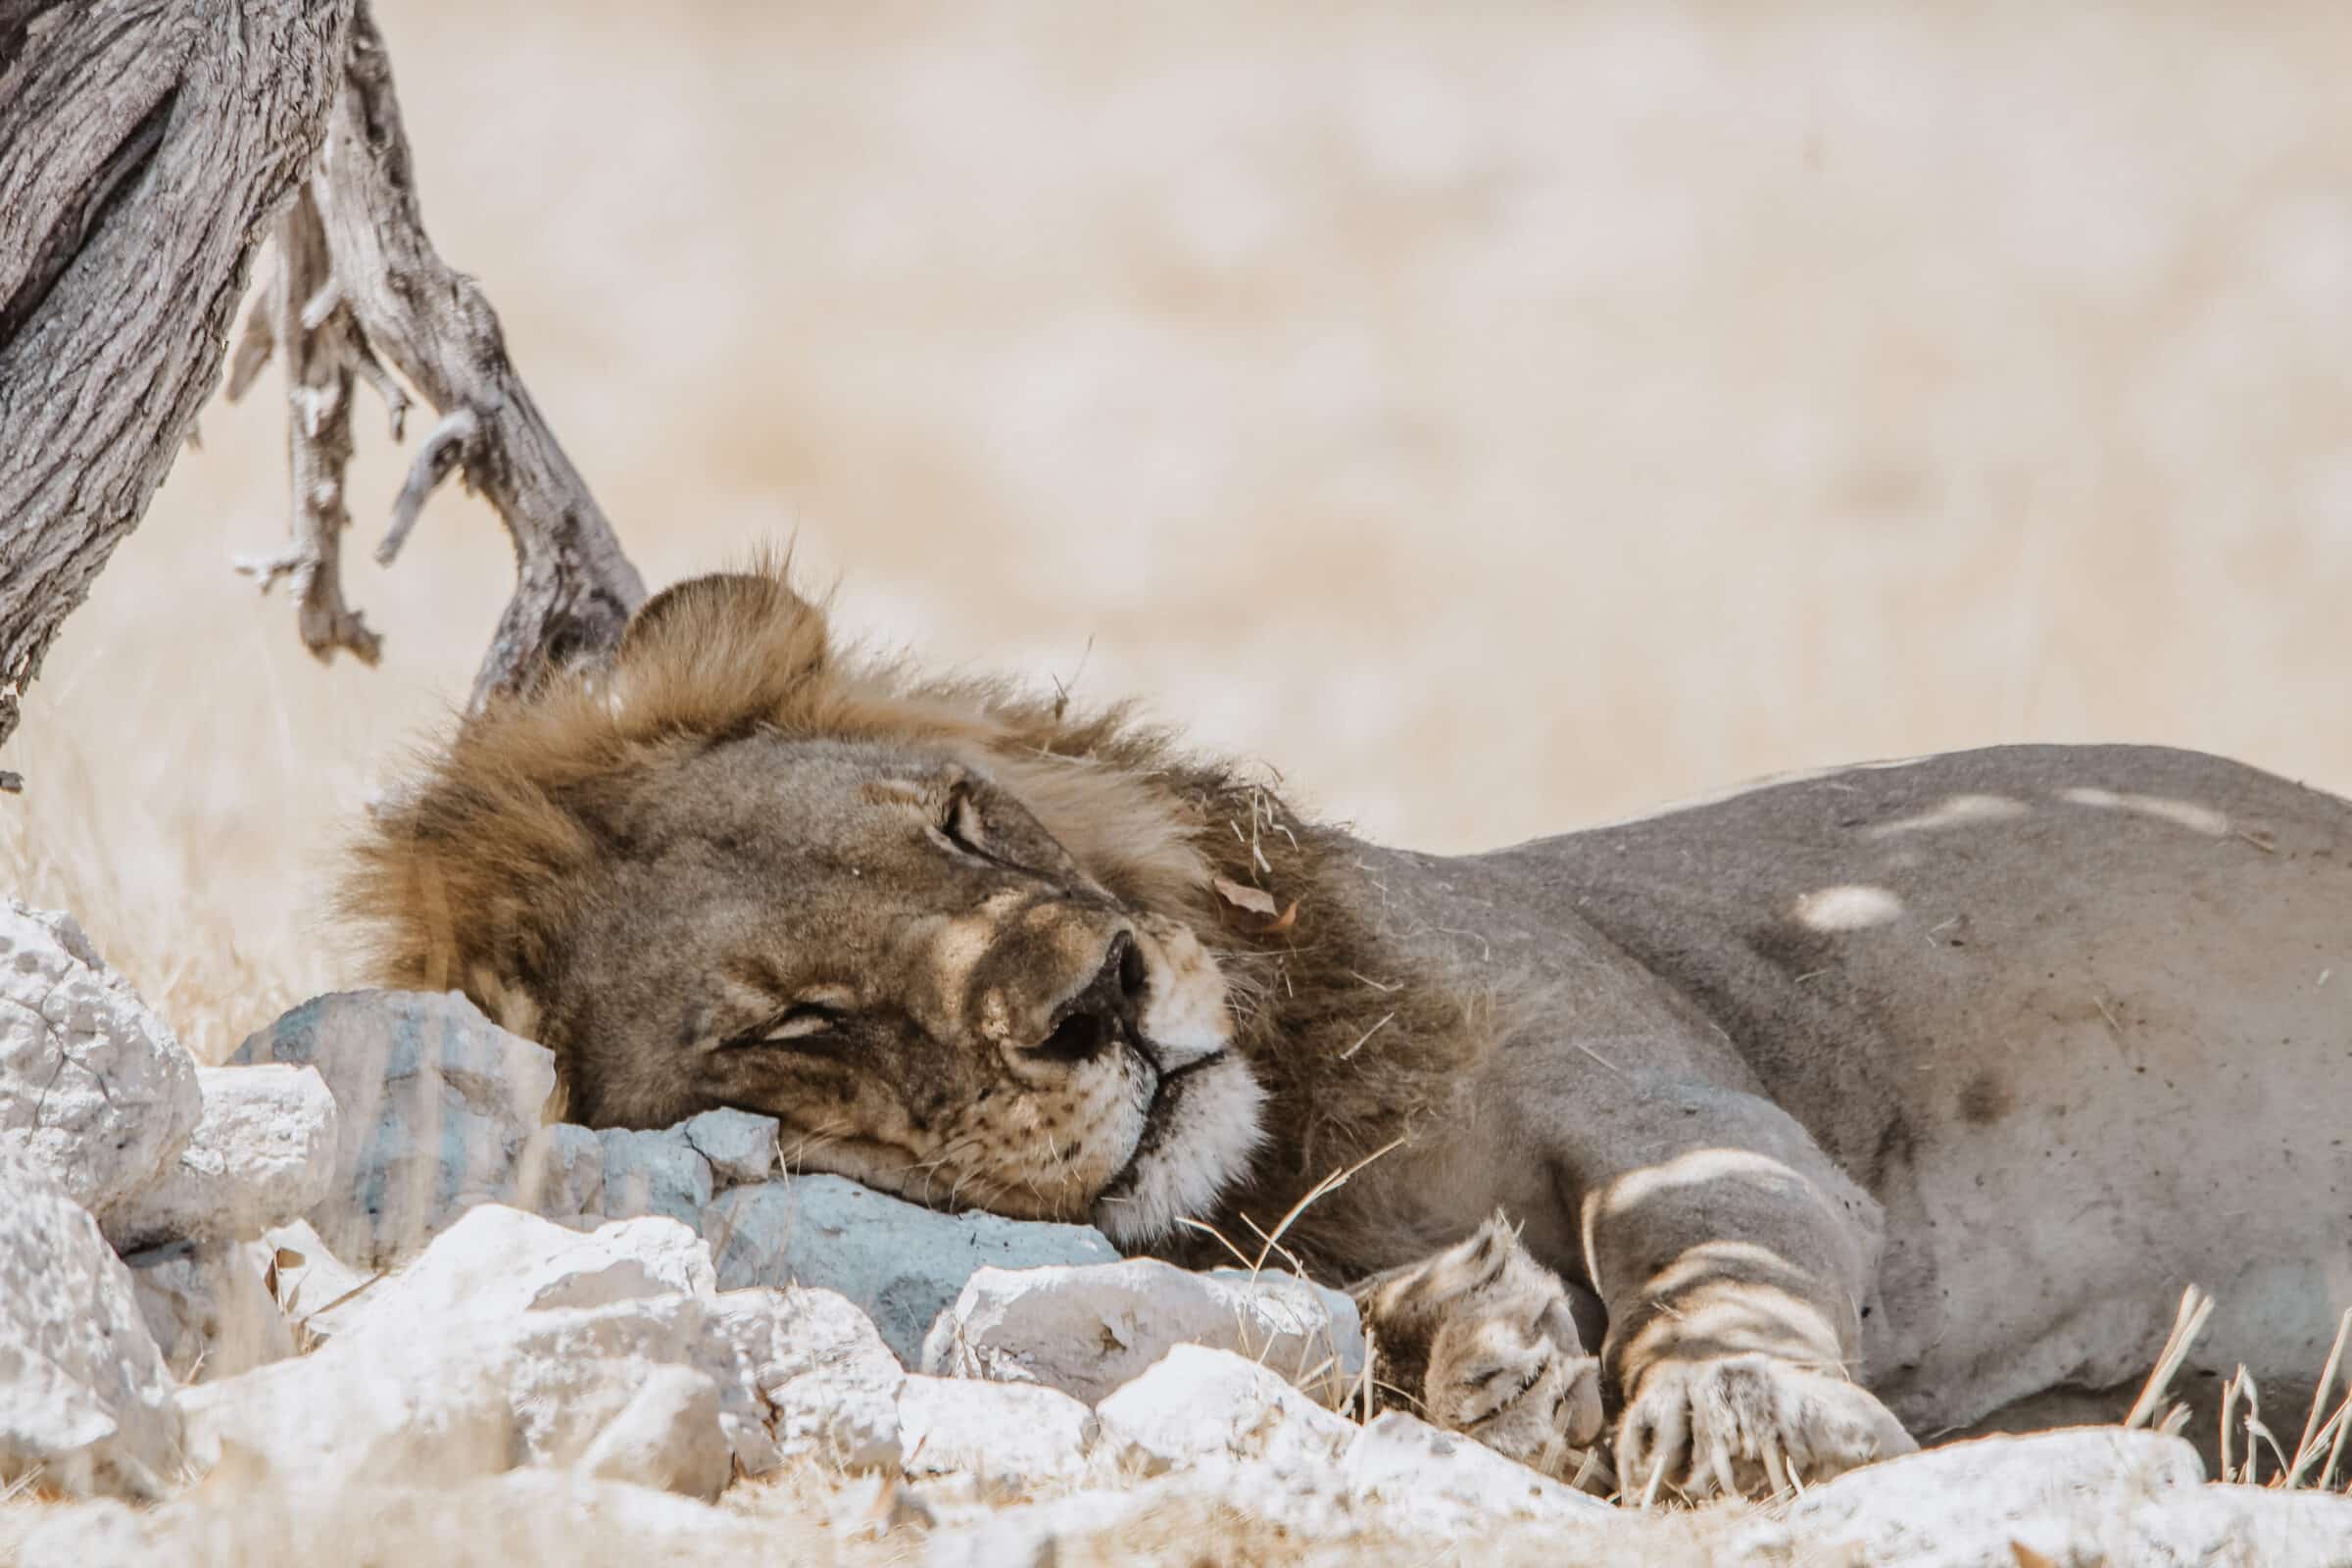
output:
M762 1117L550 1124L459 997L198 1067L0 907L0 1561L2352 1563L2352 1500L2178 1436L1630 1509L1388 1408L1272 1272L793 1175Z

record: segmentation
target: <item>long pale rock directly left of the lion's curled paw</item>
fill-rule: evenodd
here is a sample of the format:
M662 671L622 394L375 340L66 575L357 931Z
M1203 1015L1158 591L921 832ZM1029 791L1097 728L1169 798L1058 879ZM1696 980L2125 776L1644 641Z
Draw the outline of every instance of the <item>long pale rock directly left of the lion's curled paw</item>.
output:
M724 1276L724 1265L722 1265ZM1348 1298L1291 1274L1192 1274L1152 1258L981 1269L922 1345L938 1378L1042 1382L1101 1399L1174 1345L1232 1349L1336 1396L1364 1366Z

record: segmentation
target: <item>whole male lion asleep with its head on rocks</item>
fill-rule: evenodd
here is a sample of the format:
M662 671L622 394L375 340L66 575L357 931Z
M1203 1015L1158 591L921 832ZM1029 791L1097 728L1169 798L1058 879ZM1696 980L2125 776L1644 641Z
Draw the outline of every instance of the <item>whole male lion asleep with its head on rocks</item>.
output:
M2352 806L2218 757L1430 856L854 656L762 569L463 722L348 910L572 1119L762 1112L800 1168L1178 1262L1277 1237L1430 1420L1628 1495L2112 1420L2190 1281L2192 1385L2307 1378L2352 1300Z

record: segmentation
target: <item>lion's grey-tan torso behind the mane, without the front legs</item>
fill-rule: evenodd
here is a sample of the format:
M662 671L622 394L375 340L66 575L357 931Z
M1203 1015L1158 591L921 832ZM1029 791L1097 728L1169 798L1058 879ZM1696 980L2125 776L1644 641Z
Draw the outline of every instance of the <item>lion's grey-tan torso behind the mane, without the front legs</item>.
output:
M1437 1208L1388 1262L1501 1204L1578 1274L1524 1107L1613 1117L1642 1077L1712 1077L1879 1204L1863 1378L1922 1436L2060 1387L2129 1403L2187 1284L2218 1298L2190 1373L2300 1399L2352 1305L2343 799L2190 752L1997 748L1355 875L1430 973L1557 1009L1430 1128L1430 1171L1381 1185Z

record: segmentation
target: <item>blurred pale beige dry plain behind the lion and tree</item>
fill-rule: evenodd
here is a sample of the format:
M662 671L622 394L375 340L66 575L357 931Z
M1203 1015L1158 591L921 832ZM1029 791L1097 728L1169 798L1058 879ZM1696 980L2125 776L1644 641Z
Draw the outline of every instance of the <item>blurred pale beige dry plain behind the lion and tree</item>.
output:
M1138 693L1477 849L2169 741L2352 790L2352 7L381 0L426 221L659 585ZM205 1056L348 980L506 599L360 407L315 665L275 369L66 625L0 867ZM428 421L419 418L419 428Z

